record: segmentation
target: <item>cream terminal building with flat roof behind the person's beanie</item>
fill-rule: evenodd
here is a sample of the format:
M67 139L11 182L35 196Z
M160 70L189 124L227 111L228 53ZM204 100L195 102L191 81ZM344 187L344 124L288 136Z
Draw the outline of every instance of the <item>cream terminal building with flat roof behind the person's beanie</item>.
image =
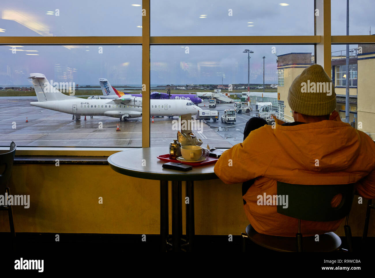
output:
M368 133L375 139L375 101L374 68L375 46L359 44L350 51L350 124ZM292 110L288 104L288 91L293 80L303 69L314 63L311 53L288 53L278 56L278 117L283 121L293 122ZM331 78L335 86L337 108L342 121L345 121L345 50L332 53Z

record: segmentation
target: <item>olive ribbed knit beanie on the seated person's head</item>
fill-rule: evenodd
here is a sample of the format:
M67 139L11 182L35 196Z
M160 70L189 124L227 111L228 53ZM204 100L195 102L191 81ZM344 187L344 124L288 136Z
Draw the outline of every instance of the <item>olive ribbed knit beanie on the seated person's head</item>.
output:
M330 115L336 109L335 87L321 65L305 68L293 80L288 103L292 110L309 116Z

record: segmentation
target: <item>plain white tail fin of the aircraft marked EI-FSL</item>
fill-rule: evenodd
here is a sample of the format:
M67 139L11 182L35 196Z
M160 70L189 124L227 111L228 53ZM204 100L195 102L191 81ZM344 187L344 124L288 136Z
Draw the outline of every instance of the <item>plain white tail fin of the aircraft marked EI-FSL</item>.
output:
M30 73L33 80L34 90L38 101L51 101L51 100L66 100L74 98L64 95L62 92L54 88L42 73Z

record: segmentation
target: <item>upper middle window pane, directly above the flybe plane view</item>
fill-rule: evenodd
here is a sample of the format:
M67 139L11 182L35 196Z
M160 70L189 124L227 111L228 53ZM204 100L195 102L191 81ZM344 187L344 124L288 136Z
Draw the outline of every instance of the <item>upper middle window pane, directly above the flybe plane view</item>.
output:
M158 0L150 9L151 36L314 35L314 0Z

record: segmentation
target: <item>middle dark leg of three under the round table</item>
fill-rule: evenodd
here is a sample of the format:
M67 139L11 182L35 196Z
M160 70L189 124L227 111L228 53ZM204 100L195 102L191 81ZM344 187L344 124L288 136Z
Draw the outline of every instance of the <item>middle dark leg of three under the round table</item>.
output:
M181 251L181 181L172 181L172 249Z

